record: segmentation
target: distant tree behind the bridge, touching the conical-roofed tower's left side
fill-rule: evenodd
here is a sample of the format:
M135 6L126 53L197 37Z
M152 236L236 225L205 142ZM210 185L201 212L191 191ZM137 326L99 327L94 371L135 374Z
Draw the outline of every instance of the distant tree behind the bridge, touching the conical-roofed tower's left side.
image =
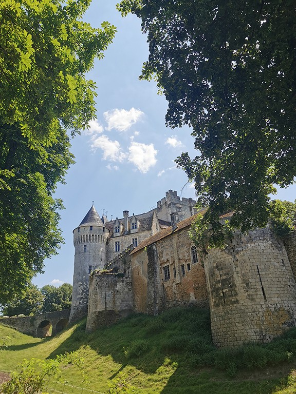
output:
M72 285L69 283L63 283L60 287L46 285L41 292L44 296L43 312L71 308Z

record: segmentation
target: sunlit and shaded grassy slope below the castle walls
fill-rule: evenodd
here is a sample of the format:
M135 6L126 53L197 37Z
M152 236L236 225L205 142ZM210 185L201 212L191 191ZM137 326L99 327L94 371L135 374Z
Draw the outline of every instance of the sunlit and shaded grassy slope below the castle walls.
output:
M266 357L262 353L262 357L254 356L259 360L255 362L257 368L252 368L254 363L244 361L245 369L234 374L231 354L217 352L210 343L209 315L205 311L175 309L156 318L138 315L90 335L85 334L84 323L65 330L58 337L42 340L0 326L0 370L14 370L24 358L45 359L65 351L77 351L84 358L84 372L90 381L87 387L101 392L107 390L110 380L121 374L139 394L296 392L295 362L273 366L276 361L270 350L265 364L271 365L260 368L261 358ZM294 342L296 349L296 339L289 340L290 345ZM283 346L281 342L276 349ZM290 353L290 359L294 360ZM216 367L201 367L199 354L205 354L208 363ZM237 359L245 360L245 356L238 354ZM228 372L219 368L225 366ZM65 368L63 377L70 384L83 386L75 367Z

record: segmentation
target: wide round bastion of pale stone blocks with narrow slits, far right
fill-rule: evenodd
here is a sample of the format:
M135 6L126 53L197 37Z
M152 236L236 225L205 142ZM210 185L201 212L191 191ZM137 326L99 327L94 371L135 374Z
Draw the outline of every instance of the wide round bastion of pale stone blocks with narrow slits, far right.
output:
M270 229L237 232L205 258L213 342L269 342L295 326L296 286L283 243Z

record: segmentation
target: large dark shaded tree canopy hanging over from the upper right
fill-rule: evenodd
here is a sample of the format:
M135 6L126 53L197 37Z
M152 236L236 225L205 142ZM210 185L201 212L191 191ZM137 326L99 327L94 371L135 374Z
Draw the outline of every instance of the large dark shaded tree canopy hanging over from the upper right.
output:
M274 184L296 175L296 12L292 0L123 0L142 19L167 125L192 127L197 155L177 159L195 183L209 244L228 226L264 226Z

